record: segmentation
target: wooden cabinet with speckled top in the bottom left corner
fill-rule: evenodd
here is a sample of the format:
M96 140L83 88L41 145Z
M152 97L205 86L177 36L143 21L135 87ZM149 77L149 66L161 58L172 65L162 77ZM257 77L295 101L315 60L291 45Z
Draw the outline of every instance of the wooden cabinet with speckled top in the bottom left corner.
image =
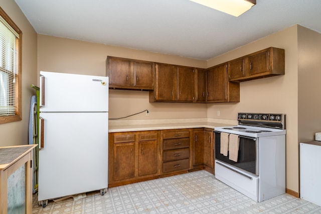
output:
M32 213L34 145L0 147L0 213Z

